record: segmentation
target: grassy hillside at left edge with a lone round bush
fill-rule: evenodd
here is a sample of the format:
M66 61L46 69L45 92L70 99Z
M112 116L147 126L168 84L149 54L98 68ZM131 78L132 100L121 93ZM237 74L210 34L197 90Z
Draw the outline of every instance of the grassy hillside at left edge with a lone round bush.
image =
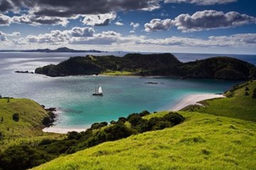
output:
M12 115L18 113L19 120L14 121ZM28 99L0 98L0 140L1 150L21 143L38 143L43 138L57 138L61 135L44 133L42 120L47 112L36 102ZM3 118L3 121L1 121Z

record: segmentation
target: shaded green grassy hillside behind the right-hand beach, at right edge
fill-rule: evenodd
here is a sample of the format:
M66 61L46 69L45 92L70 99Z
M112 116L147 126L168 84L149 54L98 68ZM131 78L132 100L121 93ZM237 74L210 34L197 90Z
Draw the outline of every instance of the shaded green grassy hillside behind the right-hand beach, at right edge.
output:
M248 82L249 85L241 84L240 89L235 90L231 98L221 98L201 102L202 106L189 106L182 111L201 112L221 115L232 118L256 121L256 99L252 99L252 91L256 88L256 80ZM249 96L245 96L245 88L250 90Z

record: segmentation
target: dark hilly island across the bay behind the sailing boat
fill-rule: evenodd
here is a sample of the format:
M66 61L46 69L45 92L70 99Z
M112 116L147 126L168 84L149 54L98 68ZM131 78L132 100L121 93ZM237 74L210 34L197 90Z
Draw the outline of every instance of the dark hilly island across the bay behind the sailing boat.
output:
M35 73L50 77L106 74L249 80L256 77L256 66L231 57L212 57L182 63L171 53L129 53L123 57L70 57L57 65L39 67Z

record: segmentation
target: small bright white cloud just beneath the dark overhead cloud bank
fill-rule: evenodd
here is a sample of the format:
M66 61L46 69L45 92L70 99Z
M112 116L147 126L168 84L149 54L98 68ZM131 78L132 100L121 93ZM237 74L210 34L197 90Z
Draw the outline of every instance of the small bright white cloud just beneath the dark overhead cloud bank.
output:
M82 23L89 26L107 26L114 19L116 19L116 13L113 12L99 15L86 15Z

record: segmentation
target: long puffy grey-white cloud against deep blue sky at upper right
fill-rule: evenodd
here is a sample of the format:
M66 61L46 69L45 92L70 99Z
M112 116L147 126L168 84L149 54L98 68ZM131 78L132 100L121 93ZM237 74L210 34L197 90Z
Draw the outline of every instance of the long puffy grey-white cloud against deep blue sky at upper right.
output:
M167 30L172 26L182 32L194 32L209 29L237 27L256 23L256 18L238 12L224 13L222 11L204 10L193 15L181 14L175 19L152 19L144 25L146 32Z

